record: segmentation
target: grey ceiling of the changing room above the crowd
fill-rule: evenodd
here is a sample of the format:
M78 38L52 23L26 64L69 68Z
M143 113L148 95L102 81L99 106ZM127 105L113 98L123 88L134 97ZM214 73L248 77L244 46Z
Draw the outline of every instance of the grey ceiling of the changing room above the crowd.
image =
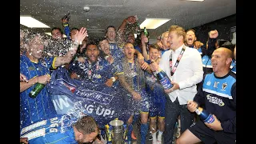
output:
M89 6L90 11L83 10ZM89 37L102 37L107 26L120 26L123 19L137 15L145 18L170 18L155 30L148 30L150 39L157 38L173 24L185 29L201 26L236 14L236 0L21 0L20 15L30 15L50 28L61 27L61 18L70 12L70 28L85 26ZM24 27L21 25L21 27ZM51 29L34 29L50 32Z

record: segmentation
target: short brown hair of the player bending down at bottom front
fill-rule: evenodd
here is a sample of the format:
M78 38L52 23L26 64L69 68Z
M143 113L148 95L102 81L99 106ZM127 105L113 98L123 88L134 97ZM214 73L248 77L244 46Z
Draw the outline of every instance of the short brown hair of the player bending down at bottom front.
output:
M97 122L94 120L93 117L88 115L79 118L73 126L82 134L91 134L93 132L99 132Z

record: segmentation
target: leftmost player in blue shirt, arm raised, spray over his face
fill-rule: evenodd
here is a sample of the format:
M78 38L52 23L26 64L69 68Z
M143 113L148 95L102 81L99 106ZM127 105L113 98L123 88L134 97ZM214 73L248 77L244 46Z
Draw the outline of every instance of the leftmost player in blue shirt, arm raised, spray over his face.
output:
M50 82L50 67L57 68L65 63L69 63L76 54L78 45L86 37L86 28L81 28L75 36L75 42L70 50L63 57L43 58L44 50L43 38L41 34L28 34L26 38L26 54L20 57L20 73L24 74L28 82L20 82L20 121L21 129L31 124L51 118L56 114L54 104L50 100L46 87L30 98L30 91L37 83L46 85Z

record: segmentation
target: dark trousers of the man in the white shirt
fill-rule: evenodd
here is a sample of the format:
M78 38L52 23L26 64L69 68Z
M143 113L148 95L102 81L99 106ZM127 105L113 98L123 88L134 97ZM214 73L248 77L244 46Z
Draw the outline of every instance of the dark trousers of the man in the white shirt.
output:
M174 136L174 126L178 116L181 116L181 133L183 133L194 121L194 113L187 110L186 105L180 105L178 98L171 102L166 98L166 118L164 131L164 144L171 144Z

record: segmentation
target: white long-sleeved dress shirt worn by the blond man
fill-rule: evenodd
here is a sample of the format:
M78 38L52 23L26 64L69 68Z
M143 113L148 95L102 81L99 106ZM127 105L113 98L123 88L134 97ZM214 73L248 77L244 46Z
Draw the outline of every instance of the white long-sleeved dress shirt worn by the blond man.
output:
M172 54L172 66L174 67L183 46L184 44L175 51L166 51L162 54L159 63L159 67L166 72L170 80L178 83L180 89L171 92L169 97L172 102L178 97L180 105L185 105L188 100L193 100L197 94L196 84L201 82L203 78L202 57L197 49L188 46L186 46L174 75L170 76L170 54Z

